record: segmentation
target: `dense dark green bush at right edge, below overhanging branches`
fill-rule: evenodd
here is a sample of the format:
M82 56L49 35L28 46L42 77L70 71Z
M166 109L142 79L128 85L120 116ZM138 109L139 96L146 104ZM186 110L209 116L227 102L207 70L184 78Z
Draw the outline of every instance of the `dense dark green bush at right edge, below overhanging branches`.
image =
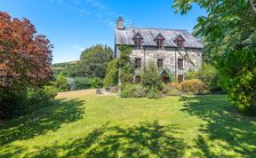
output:
M256 114L256 50L244 49L218 60L223 89L243 112Z

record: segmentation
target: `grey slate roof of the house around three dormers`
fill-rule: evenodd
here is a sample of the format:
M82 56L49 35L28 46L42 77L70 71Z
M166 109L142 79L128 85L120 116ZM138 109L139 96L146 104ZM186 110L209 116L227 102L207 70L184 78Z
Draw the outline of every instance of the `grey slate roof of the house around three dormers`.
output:
M177 47L174 42L178 36L182 36L185 39L185 48L203 48L203 44L200 43L194 36L188 33L184 29L160 29L160 28L115 28L115 41L116 44L134 45L132 38L139 33L143 37L143 45L156 46L154 39L161 34L164 36L165 47Z

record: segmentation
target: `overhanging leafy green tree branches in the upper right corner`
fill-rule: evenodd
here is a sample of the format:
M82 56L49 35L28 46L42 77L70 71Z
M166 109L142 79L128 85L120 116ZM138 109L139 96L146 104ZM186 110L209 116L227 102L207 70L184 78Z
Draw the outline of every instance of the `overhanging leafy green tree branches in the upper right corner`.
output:
M197 20L195 35L202 38L206 60L211 61L225 52L251 47L256 39L256 12L252 0L175 0L176 12L187 13L197 3L208 12ZM254 1L254 5L255 5Z

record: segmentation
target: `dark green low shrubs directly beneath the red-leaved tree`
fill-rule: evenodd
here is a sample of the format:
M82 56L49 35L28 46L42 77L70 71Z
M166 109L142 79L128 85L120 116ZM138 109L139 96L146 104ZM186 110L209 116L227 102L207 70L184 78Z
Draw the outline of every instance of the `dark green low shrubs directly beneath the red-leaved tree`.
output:
M57 89L53 86L28 88L22 92L0 91L0 120L28 115L42 107L53 104Z

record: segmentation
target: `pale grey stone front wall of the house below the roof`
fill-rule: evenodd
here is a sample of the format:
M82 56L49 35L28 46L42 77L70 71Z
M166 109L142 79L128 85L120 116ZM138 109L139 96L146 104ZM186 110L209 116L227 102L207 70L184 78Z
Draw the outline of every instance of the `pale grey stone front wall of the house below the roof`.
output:
M132 50L130 59L133 63L136 58L141 58L142 65L147 64L149 60L156 63L157 59L164 59L164 68L170 69L173 75L175 72L176 75L185 75L189 70L199 70L202 67L202 51L199 49L187 49L186 51L157 50L156 48ZM178 68L178 59L184 59L183 69ZM140 74L140 70L136 70L135 73Z

